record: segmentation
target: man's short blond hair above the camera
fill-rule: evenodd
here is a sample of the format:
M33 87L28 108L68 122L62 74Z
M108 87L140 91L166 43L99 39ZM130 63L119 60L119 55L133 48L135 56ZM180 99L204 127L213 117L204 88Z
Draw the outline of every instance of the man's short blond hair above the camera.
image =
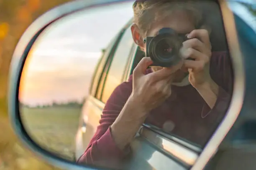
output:
M188 0L136 0L133 3L134 23L141 30L143 37L146 37L151 23L156 20L164 20L173 11L184 10L192 18L197 28L202 22L202 14L194 4L195 1L189 2Z

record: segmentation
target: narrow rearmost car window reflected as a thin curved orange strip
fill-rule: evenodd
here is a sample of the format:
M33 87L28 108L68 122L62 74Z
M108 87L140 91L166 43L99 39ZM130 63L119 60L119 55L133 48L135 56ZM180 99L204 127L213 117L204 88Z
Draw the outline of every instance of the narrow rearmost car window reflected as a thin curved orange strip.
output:
M98 87L98 83L100 81L100 77L102 74L102 71L104 69L104 66L107 62L108 56L110 55L110 51L113 47L113 45L115 44L116 40L117 40L118 36L116 36L115 38L113 38L113 40L111 40L110 44L108 45L108 47L105 49L105 52L102 54L102 57L97 65L97 68L95 70L95 75L93 77L93 81L92 81L92 86L91 86L91 95L95 95L96 91L97 91L97 87Z

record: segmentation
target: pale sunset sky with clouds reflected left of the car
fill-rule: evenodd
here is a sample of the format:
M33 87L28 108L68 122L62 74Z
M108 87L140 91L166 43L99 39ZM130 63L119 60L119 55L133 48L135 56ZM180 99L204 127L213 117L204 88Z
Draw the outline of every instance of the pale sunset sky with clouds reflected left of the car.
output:
M101 50L132 16L132 2L123 2L80 11L50 25L33 45L20 100L33 105L86 96Z

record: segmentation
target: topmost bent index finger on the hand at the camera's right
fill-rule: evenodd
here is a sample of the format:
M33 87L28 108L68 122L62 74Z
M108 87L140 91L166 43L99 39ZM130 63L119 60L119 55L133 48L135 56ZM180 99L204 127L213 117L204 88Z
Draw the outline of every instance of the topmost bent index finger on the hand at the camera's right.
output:
M211 49L209 32L205 29L193 30L187 35L188 38L199 38L207 47Z

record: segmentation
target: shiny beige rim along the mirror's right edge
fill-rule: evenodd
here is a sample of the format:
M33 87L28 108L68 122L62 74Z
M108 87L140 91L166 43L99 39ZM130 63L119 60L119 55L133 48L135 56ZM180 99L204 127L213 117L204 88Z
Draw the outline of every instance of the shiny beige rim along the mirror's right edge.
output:
M236 25L233 13L228 8L228 2L226 0L219 0L220 8L223 16L223 23L226 32L226 38L228 41L229 52L232 60L232 65L236 69L234 72L234 87L233 95L231 98L230 106L226 113L225 118L220 123L215 133L205 146L204 150L197 159L195 165L191 170L202 170L207 165L208 161L218 150L220 143L228 134L233 124L236 122L238 115L240 114L243 98L245 95L245 69L243 66L242 53L238 42L236 33Z

